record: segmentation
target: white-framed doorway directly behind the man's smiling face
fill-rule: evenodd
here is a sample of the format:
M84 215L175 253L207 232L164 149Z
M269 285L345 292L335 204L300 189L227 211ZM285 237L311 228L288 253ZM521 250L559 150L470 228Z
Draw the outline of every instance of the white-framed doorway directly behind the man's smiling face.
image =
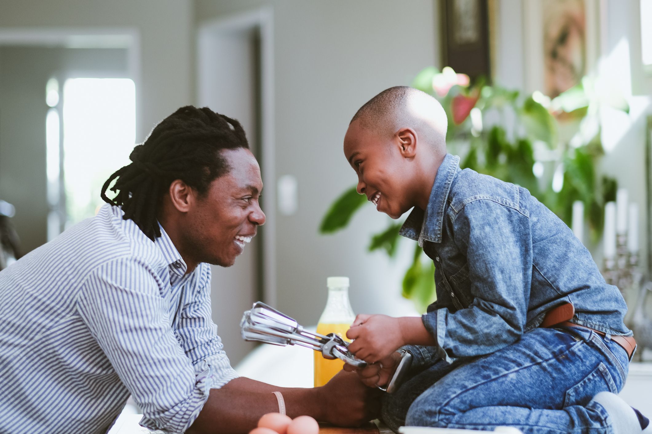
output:
M235 366L255 344L241 338L240 319L254 301L276 304L271 10L211 21L198 32L197 103L239 120L258 159L267 222L235 265L213 265L211 303L224 349Z

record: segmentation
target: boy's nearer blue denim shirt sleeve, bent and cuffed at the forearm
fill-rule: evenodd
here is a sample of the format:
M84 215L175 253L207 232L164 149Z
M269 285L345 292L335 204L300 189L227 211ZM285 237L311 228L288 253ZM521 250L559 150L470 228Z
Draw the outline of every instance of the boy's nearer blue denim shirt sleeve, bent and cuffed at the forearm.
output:
M532 275L529 219L492 200L466 204L454 218L454 241L466 255L467 308L439 308L422 316L424 326L451 362L493 353L515 342L526 322Z

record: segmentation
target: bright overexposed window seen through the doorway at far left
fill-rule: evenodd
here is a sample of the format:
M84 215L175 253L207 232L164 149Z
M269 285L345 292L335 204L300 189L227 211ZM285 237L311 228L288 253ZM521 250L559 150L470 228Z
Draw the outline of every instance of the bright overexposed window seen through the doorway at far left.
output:
M48 95L49 104L55 98L50 91ZM59 234L62 221L67 227L95 215L104 203L102 185L129 163L136 141L136 88L131 79L67 79L61 97L63 146L59 111L50 109L46 119L49 239Z

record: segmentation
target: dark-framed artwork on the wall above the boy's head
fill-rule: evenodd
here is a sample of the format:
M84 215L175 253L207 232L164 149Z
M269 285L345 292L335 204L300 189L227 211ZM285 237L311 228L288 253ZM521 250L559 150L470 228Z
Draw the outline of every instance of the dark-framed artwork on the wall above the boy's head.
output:
M441 0L441 65L471 79L491 79L486 0Z

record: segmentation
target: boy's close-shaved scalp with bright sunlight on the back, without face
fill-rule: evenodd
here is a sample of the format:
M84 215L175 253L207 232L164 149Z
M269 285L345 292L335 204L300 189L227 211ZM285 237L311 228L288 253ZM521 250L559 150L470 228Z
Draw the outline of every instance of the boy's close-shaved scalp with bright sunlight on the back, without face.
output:
M391 136L400 128L412 128L437 154L446 153L446 112L421 90L407 86L385 89L360 107L350 124L356 121L379 135Z

